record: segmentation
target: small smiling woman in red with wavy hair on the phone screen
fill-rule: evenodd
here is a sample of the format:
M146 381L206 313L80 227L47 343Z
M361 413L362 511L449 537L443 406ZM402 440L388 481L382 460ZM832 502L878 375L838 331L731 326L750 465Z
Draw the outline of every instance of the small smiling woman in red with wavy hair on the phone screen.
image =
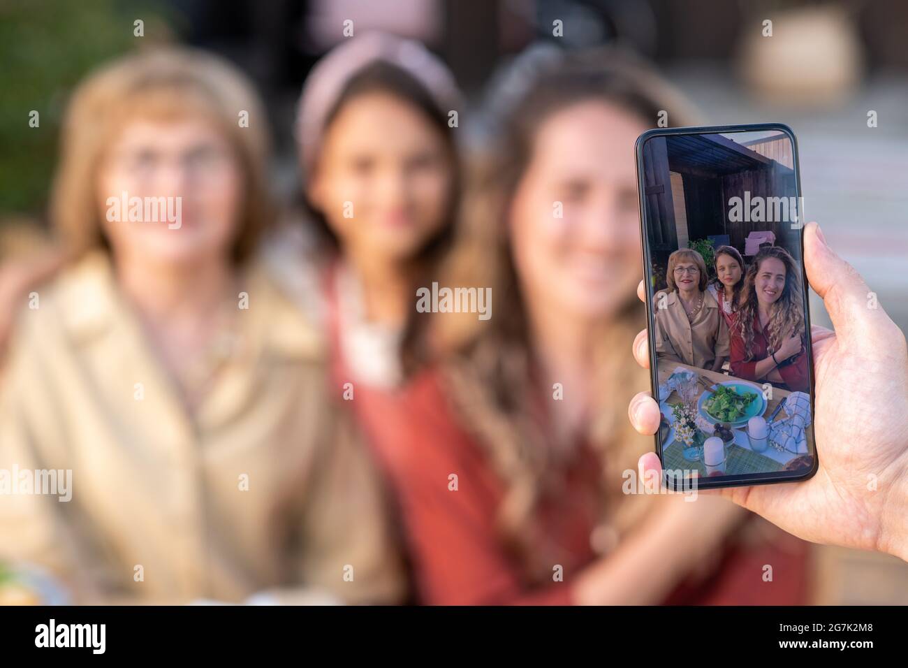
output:
M795 259L780 246L756 254L732 331L732 375L809 391L799 275Z

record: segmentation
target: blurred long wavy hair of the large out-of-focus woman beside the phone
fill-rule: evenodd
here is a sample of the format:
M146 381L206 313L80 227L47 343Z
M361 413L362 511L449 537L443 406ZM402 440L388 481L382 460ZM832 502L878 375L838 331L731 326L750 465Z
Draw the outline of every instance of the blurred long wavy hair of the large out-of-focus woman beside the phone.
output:
M646 124L656 123L659 110L672 109L677 125L696 125L696 113L650 68L614 48L537 51L521 58L489 95L494 108L487 123L495 141L483 145L471 165L462 226L444 283L491 286L498 304L495 317L479 323L475 315L448 314L434 321L430 338L446 360L444 379L460 424L469 425L503 481L497 518L502 542L525 564L528 580L535 581L550 576L554 562L548 548L555 549L539 533L535 513L544 499L569 492L563 474L578 452L566 448L540 415L552 390L539 382L504 221L532 159L538 128L551 115L589 100L616 105ZM589 362L596 370L589 395L597 404L583 440L600 464L599 517L611 527L605 533L614 547L612 541L632 531L652 507L641 495L621 493L623 472L636 471L637 457L652 449L652 439L637 434L627 420L631 396L648 386L646 372L629 353L635 335L646 326L645 311L628 294L610 322L597 326L599 346Z

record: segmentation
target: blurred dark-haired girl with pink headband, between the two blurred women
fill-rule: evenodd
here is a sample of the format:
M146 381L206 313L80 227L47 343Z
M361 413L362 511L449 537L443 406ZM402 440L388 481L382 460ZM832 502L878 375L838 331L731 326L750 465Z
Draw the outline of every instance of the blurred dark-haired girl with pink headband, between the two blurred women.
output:
M357 36L316 65L297 121L307 222L321 262L337 392L393 392L412 294L449 248L459 92L418 43ZM299 270L299 255L275 264ZM347 394L350 398L350 394ZM359 404L352 404L356 409Z

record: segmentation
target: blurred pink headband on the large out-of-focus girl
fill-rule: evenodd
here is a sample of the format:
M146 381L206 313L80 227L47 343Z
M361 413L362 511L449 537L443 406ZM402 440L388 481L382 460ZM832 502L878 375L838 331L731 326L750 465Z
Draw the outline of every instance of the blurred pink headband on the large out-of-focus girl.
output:
M296 116L296 140L303 175L311 173L326 117L344 88L363 68L379 61L397 65L416 79L440 109L458 108L460 92L454 77L448 67L419 42L384 33L350 37L321 58L302 87Z

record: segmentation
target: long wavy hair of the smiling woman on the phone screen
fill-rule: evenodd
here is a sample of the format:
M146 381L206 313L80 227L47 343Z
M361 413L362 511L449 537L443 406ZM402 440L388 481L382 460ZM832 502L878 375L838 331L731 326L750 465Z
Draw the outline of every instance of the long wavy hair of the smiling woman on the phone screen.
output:
M756 276L760 272L760 265L770 257L775 257L785 264L785 287L770 307L769 353L775 353L787 336L804 328L803 298L795 258L785 248L768 246L756 254L753 264L747 269L744 282L745 296L737 312L735 331L744 340L745 361L754 358L754 321L759 309L756 300Z

